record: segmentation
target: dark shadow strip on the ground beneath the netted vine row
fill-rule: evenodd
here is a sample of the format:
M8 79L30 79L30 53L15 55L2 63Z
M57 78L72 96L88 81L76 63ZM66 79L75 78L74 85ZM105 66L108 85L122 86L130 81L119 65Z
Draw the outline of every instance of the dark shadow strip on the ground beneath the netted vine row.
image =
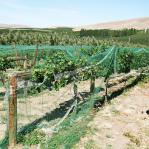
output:
M134 80L132 82L132 84L129 85L129 86L127 86L125 89L129 89L129 88L134 87L140 80L141 80L141 78L139 78L137 80ZM121 89L121 90L119 90L119 91L114 92L113 94L111 94L108 97L108 101L110 102L113 98L115 98L115 97L119 96L120 94L122 94L125 89ZM94 94L99 93L100 91L103 91L103 88L96 88L96 92ZM86 99L91 95L91 93L89 93L89 92L82 92L82 93L79 93L79 94L80 94L80 97L78 97L78 102L79 101L83 101L83 102L81 102L81 104L84 103L84 102L86 102ZM57 118L62 118L66 114L68 108L72 105L72 103L74 102L74 100L75 99L72 98L72 99L70 99L70 100L68 100L68 101L66 101L64 103L61 103L59 108L56 108L55 110L53 110L53 111L51 111L49 113L46 113L43 117L41 117L39 119L36 119L35 121L33 121L30 124L25 125L18 132L18 138L20 136L22 136L22 135L24 136L24 135L26 135L26 134L31 133L32 131L34 131L37 128L37 126L42 121L50 122L50 121L55 120ZM94 108L102 107L104 105L104 103L105 103L105 97L103 96L99 100L96 100L95 101ZM6 147L7 145L8 145L8 135L6 135L6 137L4 138L4 140L2 140L0 142L0 149L1 148L2 149L7 148Z

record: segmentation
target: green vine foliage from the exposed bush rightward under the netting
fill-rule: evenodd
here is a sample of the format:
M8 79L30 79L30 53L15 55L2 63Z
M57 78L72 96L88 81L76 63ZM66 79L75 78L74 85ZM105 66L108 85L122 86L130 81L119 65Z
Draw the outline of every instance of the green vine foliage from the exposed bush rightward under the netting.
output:
M147 52L149 52L148 49L119 47L110 47L104 52L103 47L93 47L88 50L55 50L46 58L44 65L37 65L33 69L33 80L42 82L47 76L48 84L59 89L73 81L72 76L65 78L62 74L79 69L84 70L74 76L77 80L108 77L115 71L128 73L131 69L138 69L149 64ZM98 64L101 61L103 62ZM62 75L60 79L55 78L58 74Z

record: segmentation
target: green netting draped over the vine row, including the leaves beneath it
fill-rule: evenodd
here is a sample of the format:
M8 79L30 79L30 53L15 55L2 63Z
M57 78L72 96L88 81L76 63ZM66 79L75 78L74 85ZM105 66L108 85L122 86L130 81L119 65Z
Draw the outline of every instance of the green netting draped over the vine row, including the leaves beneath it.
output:
M17 57L27 55L28 59L33 60L36 48L36 45L1 45L0 55ZM44 80L42 78L47 77L49 73L53 78L53 74L78 69L80 69L79 72L92 69L91 71L94 71L97 77L106 77L112 73L129 72L131 69L147 66L149 64L148 55L149 49L147 48L39 45L34 68L36 72L39 70L37 74L41 76L39 79L41 82Z

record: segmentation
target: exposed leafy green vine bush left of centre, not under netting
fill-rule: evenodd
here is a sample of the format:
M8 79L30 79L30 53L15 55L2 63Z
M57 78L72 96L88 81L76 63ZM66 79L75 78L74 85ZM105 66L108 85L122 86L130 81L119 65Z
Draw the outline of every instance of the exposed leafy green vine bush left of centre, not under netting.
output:
M45 61L44 66L36 66L32 71L33 80L35 82L42 82L45 76L48 76L48 81L55 89L59 89L65 86L69 82L73 81L73 78L62 78L61 80L55 80L55 75L74 71L77 68L86 66L87 59L85 57L77 57L73 59L66 53L66 51L53 51L51 55Z

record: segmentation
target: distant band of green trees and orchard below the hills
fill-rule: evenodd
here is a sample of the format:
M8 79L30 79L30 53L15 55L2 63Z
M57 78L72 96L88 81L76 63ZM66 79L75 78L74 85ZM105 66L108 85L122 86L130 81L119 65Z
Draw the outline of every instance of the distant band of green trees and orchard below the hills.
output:
M149 45L149 31L124 30L81 30L56 29L0 29L0 44L10 45Z

